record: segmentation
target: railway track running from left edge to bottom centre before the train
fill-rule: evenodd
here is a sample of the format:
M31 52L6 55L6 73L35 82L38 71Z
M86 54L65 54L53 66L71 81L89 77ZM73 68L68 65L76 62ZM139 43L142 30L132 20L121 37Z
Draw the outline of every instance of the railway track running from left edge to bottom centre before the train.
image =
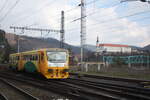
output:
M11 80L16 80L16 81L20 81L20 82L24 82L24 83L28 83L30 85L36 86L36 87L40 87L49 91L53 91L55 93L59 93L59 94L63 94L64 96L70 98L70 99L74 99L74 100L91 100L92 96L96 96L93 97L95 100L97 98L98 100L98 96L97 94L94 94L93 92L87 92L84 90L80 90L78 87L75 86L71 86L71 85L64 85L64 84L57 84L56 82L47 82L46 80L37 80L37 79L32 79L32 78L27 78L27 77L23 77L23 76L14 76L13 75L8 76L8 74L0 74L1 77L5 77L7 79L11 79ZM87 94L89 94L90 96L87 96ZM102 98L102 96L101 96ZM104 97L103 97L104 98ZM105 97L106 98L106 97ZM108 97L107 97L108 100ZM112 98L110 99L112 100Z

